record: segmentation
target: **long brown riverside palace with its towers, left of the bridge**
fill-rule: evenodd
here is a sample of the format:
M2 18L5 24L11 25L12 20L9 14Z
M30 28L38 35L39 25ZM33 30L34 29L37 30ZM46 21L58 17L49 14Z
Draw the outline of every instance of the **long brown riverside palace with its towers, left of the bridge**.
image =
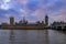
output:
M35 23L29 23L29 21L23 18L23 20L18 22L14 22L14 18L10 16L10 24L8 23L2 23L1 28L2 29L44 29L48 26L48 16L45 15L44 21L36 21Z

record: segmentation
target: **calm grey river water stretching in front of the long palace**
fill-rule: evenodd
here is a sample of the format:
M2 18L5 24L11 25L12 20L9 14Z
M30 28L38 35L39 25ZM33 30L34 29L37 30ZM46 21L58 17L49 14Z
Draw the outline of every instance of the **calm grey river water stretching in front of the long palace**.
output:
M54 30L0 30L0 44L66 44L66 33Z

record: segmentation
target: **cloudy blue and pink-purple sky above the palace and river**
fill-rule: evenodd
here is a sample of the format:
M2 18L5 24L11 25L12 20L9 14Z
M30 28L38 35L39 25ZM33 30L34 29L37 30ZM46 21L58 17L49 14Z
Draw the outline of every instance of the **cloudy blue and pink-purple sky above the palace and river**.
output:
M10 16L15 22L23 18L30 22L44 21L46 14L50 23L66 22L66 0L0 0L0 23L9 22Z

